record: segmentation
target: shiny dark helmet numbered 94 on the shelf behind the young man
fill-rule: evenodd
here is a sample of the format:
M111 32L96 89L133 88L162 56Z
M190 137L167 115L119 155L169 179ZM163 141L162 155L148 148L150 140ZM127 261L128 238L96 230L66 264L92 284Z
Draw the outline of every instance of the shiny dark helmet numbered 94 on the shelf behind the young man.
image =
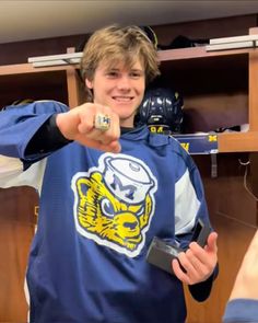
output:
M148 125L152 132L178 134L183 124L183 97L168 88L146 90L139 108L140 125Z

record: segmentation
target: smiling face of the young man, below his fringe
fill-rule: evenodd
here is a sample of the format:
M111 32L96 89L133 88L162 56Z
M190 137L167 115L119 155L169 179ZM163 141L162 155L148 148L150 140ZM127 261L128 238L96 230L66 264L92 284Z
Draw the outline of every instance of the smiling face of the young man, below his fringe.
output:
M145 90L145 73L140 60L130 69L124 64L115 68L101 64L93 80L86 80L86 85L93 90L95 103L107 105L118 114L120 126L133 126Z

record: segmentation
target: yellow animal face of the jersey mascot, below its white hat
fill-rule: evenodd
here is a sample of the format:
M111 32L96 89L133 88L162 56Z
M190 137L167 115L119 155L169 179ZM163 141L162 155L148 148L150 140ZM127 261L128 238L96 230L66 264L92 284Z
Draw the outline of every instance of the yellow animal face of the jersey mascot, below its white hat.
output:
M128 199L122 200L110 189L105 181L105 172L94 169L87 174L73 181L77 196L74 216L80 233L128 255L138 254L153 214L150 192L143 199L128 203ZM117 189L122 188L120 184ZM127 196L130 197L130 194Z

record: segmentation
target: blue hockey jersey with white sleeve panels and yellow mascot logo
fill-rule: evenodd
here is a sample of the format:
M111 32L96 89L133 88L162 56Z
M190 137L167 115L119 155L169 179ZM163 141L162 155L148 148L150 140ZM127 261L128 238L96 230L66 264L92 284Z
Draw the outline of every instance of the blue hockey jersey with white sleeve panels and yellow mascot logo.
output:
M197 219L209 223L192 159L145 127L121 135L118 154L71 142L26 155L39 127L64 111L51 101L0 113L0 165L16 161L0 186L25 183L40 194L26 277L31 322L185 322L183 284L145 256L154 237L185 247Z

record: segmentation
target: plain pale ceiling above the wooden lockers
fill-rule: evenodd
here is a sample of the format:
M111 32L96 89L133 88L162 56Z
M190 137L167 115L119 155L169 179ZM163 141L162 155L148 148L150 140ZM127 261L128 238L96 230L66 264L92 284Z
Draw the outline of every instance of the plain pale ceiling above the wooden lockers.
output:
M0 43L258 13L258 1L0 1Z

